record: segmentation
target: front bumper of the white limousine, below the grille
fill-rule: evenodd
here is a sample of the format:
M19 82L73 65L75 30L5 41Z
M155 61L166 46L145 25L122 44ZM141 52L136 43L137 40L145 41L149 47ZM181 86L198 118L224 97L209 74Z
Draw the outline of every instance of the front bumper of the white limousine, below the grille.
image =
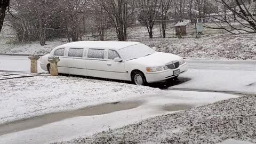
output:
M154 82L160 82L164 81L165 79L169 79L178 75L174 75L174 70L180 69L180 74L185 73L188 70L188 63L183 63L179 68L177 69L168 69L164 71L158 71L156 73L146 73L146 79L148 83L154 83Z

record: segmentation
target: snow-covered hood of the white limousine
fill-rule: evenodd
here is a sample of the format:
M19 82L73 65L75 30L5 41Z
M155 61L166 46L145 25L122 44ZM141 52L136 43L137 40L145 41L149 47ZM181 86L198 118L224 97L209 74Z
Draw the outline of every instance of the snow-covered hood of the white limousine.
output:
M150 67L158 67L158 66L164 66L167 63L170 63L173 61L179 61L180 59L181 57L171 53L155 52L146 57L133 59L131 60L131 62L140 64L140 65L150 66Z

